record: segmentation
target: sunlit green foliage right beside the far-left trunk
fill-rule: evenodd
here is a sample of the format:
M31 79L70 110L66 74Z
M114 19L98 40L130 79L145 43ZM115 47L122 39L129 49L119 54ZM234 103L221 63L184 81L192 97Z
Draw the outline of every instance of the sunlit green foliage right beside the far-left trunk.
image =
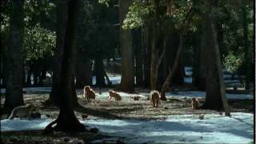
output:
M56 34L40 25L25 28L22 54L26 61L53 56Z

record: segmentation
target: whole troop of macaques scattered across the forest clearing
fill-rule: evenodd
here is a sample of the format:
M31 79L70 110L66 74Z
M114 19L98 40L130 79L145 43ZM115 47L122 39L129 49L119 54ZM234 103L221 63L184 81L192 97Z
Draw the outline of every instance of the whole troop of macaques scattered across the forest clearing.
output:
M90 99L95 99L96 93L95 93L94 90L92 90L90 88L90 86L85 86L83 90L84 90L84 98L86 98L86 100L88 102L90 101ZM118 94L114 90L109 90L109 94L110 94L109 98L108 98L109 101L111 100L111 98L114 98L115 101L121 101L122 100L121 95ZM134 101L136 101L140 97L135 96L133 98L134 98ZM152 104L154 107L158 107L159 101L160 101L159 92L157 90L152 90L150 92L150 104ZM192 105L193 110L198 109L199 108L198 99L197 98L192 98L191 105ZM13 119L13 118L15 118L15 116L18 116L18 117L26 116L26 118L29 120L30 119L30 114L34 110L36 110L36 106L34 106L33 104L27 104L25 106L15 107L14 110L12 110L9 119Z

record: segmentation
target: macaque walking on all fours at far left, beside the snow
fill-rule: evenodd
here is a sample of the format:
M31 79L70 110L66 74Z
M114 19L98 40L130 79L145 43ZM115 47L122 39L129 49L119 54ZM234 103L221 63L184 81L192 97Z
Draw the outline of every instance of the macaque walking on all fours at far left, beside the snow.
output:
M11 111L10 117L8 119L13 119L15 116L23 117L26 116L30 120L30 114L32 111L36 110L35 106L32 104L27 104L26 106L17 106Z

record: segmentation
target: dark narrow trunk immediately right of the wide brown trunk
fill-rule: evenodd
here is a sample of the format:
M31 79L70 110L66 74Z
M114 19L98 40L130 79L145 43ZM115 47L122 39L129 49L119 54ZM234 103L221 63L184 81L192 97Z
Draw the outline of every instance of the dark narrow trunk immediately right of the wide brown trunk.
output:
M133 44L135 50L136 59L136 85L142 86L143 74L142 74L142 40L141 40L141 30L134 30L133 33Z

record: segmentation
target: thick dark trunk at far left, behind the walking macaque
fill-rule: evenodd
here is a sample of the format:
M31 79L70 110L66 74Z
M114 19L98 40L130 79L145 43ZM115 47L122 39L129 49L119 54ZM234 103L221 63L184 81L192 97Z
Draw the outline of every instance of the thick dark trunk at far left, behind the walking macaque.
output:
M22 94L22 37L23 37L23 0L10 1L10 38L6 50L6 100L5 107L13 109L21 106Z

